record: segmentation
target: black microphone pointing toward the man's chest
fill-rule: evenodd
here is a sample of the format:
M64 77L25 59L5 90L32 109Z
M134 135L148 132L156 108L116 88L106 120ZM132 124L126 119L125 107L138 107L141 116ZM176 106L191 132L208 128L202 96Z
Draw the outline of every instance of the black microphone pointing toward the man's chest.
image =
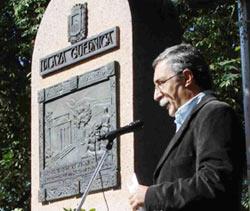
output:
M115 137L120 136L122 134L133 132L136 129L141 129L141 128L143 128L143 125L144 124L141 120L136 120L136 121L131 122L130 124L124 126L124 127L107 132L106 134L102 135L99 138L99 140L114 139Z

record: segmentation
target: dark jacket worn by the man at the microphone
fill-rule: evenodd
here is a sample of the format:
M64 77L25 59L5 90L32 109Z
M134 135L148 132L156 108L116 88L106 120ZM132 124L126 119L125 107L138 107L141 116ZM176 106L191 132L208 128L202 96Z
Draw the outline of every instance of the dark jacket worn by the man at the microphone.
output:
M232 108L205 96L160 159L146 193L146 210L239 210L244 154Z

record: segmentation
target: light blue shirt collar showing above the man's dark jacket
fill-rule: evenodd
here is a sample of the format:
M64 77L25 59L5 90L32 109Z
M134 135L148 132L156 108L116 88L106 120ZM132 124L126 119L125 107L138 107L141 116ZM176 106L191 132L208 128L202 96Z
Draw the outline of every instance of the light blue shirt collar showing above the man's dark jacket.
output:
M205 92L200 92L189 101L184 103L178 110L175 112L175 124L176 132L182 126L188 115L192 112L193 108L201 101L201 99L206 95Z

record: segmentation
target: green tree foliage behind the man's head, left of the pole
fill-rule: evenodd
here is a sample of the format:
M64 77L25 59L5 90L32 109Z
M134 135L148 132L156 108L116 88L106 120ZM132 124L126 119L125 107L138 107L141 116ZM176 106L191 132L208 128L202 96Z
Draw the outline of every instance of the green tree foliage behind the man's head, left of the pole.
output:
M210 5L199 2L205 0L179 1L183 41L203 52L210 64L218 95L231 104L238 114L242 114L237 1Z

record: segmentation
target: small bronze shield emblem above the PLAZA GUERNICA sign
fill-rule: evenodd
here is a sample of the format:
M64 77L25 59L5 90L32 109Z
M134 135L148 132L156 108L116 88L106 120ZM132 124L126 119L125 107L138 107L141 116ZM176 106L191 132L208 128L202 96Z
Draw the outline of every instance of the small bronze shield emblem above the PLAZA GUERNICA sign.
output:
M68 41L74 44L87 37L87 3L76 4L68 17Z

